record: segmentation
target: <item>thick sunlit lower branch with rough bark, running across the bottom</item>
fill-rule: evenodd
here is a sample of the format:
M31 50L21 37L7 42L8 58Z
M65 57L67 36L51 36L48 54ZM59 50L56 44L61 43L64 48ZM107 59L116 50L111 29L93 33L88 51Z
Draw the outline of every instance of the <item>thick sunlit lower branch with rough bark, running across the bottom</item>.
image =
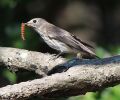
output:
M42 79L9 85L0 89L0 99L16 100L32 95L62 97L85 94L119 84L120 64L80 65Z

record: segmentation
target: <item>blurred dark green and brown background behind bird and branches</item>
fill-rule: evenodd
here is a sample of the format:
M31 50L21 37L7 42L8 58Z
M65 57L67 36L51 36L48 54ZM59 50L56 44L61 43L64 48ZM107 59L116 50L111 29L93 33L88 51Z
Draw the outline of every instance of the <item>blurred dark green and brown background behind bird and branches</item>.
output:
M57 53L30 28L26 27L26 41L22 41L21 23L35 17L44 18L92 44L99 57L120 53L119 0L0 0L0 46ZM34 78L39 76L33 72L14 73L0 68L0 87ZM120 100L120 86L60 100Z

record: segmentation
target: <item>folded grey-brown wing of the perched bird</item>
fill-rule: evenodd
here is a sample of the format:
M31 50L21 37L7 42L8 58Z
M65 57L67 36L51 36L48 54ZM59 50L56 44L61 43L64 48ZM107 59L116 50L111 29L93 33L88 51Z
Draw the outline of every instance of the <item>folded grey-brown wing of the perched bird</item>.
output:
M73 37L69 32L56 27L52 26L49 27L48 32L47 32L50 38L59 40L63 43L66 43L68 46L73 47L77 50L95 55L90 49L88 49L82 42L78 41L75 37Z

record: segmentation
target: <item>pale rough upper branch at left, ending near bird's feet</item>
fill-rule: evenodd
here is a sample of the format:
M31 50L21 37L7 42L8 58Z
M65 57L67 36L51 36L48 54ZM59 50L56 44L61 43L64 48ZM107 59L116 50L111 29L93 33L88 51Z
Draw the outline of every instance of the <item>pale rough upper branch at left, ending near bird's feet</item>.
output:
M48 53L0 47L0 65L5 65L13 71L26 69L46 76L47 72L54 66L66 61L64 58L55 57L55 55Z

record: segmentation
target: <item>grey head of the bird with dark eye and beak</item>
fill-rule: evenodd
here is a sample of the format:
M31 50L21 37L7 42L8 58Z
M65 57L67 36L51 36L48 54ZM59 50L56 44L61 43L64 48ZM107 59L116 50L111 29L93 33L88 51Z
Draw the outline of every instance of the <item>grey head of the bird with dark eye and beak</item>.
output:
M27 23L25 23L25 25L32 27L34 29L38 29L41 25L43 25L46 21L42 18L33 18L30 21L28 21Z

